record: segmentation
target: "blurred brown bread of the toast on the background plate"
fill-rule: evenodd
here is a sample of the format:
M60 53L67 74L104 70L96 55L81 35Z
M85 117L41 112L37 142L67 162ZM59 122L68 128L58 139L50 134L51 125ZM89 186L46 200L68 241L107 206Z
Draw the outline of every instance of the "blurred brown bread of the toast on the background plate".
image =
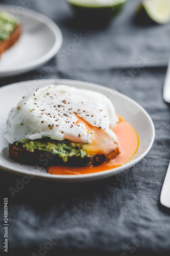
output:
M22 32L21 25L17 25L15 30L11 33L8 39L0 42L0 55L12 47L19 39Z

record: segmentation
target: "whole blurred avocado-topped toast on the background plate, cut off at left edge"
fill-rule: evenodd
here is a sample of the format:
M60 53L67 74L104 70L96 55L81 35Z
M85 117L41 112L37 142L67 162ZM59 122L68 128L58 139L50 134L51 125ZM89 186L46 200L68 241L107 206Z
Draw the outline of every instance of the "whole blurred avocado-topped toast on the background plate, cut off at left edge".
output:
M21 31L18 19L13 18L8 12L0 12L0 56L16 43Z

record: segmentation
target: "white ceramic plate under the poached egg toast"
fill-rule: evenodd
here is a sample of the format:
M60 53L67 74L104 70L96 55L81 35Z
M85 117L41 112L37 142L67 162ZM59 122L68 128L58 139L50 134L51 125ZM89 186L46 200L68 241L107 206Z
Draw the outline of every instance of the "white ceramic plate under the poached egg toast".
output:
M136 129L140 145L136 155L128 163L114 169L105 170L99 173L84 174L84 175L51 175L47 174L43 168L35 169L29 165L20 165L8 158L8 142L4 138L4 131L6 129L6 120L9 111L17 105L20 99L36 90L49 84L66 84L67 86L74 86L77 88L86 88L88 90L98 91L109 97L113 102L116 113L124 117ZM99 180L107 178L112 175L123 172L130 168L138 161L140 161L150 150L155 136L153 122L148 113L134 100L118 93L107 87L99 86L97 84L63 79L48 79L25 81L14 83L0 89L0 168L11 174L20 176L33 175L32 178L37 180L53 181L53 182L84 182L91 180Z

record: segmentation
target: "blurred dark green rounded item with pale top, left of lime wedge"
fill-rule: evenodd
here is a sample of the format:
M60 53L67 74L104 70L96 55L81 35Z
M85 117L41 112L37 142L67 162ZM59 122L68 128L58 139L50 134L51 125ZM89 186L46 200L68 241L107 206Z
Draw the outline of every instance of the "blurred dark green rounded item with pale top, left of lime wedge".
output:
M126 0L67 0L76 17L88 23L108 23L123 8Z

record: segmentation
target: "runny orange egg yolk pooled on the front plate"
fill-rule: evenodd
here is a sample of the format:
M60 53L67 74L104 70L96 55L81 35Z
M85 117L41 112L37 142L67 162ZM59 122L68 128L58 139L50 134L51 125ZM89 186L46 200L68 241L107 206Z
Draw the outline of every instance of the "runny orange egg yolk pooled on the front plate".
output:
M81 175L103 172L116 168L127 163L137 152L139 147L139 137L134 127L129 124L122 117L119 117L119 122L113 129L117 136L117 144L121 153L110 160L98 166L84 166L84 167L71 167L71 166L49 166L47 171L49 174L57 175Z

